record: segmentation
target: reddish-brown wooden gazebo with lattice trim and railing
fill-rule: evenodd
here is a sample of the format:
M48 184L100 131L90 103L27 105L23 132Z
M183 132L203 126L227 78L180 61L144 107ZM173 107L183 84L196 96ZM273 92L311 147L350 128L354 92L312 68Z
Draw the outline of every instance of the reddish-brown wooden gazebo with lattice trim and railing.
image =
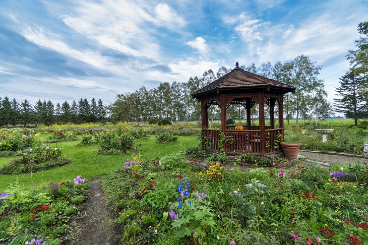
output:
M278 134L284 135L283 95L295 92L295 87L268 79L236 67L225 76L193 93L193 98L201 101L203 147L220 152L220 142L227 156L241 153L267 156L280 150L274 141ZM275 129L275 104L278 102L278 128ZM247 109L247 125L243 130L226 126L226 109L233 104ZM251 108L259 105L259 126L251 125ZM265 126L265 104L270 107L270 126ZM208 108L221 108L221 130L208 129ZM225 137L220 139L220 132Z

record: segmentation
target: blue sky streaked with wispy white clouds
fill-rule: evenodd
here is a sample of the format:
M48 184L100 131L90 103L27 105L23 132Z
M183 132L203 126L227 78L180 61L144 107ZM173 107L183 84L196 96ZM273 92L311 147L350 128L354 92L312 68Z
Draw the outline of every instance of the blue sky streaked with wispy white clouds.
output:
M305 54L331 100L363 21L366 0L1 0L0 97L109 104L141 86Z

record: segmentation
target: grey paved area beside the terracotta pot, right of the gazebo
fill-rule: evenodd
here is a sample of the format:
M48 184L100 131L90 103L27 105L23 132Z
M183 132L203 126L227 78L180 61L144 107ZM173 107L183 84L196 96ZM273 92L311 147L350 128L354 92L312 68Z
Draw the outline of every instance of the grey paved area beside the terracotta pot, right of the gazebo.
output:
M304 151L299 150L298 158L303 158L307 161L319 162L321 164L330 165L330 164L354 164L368 163L368 157L356 156L344 153L335 153L335 152L318 152L318 151Z

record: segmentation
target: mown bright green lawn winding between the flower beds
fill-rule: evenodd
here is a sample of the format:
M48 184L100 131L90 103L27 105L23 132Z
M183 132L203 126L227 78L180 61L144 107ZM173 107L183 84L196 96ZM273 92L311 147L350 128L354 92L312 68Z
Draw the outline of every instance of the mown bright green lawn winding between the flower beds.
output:
M103 174L116 170L124 166L124 162L132 160L132 153L125 155L98 155L97 146L76 147L79 141L59 142L57 147L62 147L63 153L72 160L71 163L43 172L26 173L19 175L2 175L0 179L0 193L7 189L10 183L18 182L21 187L29 187L32 183L45 185L50 181L61 182L73 179L77 175L83 178L98 178ZM136 144L141 144L142 159L155 159L168 154L176 153L178 150L186 150L197 145L196 136L180 136L175 143L158 144L155 137L151 136L147 140L138 140ZM55 147L56 144L50 144ZM0 157L0 166L9 163L14 157Z

